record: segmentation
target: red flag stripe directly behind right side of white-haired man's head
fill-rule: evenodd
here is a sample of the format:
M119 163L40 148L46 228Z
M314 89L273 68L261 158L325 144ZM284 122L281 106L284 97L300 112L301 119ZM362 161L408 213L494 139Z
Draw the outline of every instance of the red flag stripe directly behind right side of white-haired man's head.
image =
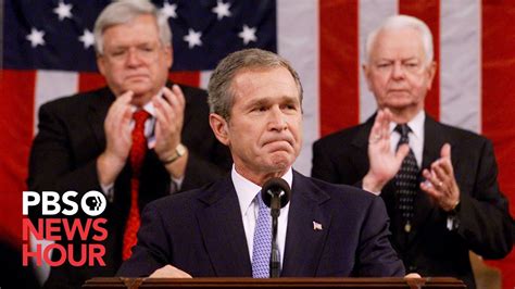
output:
M440 1L426 0L399 0L399 13L407 14L424 21L432 33L435 42L435 61L440 63ZM437 67L437 74L432 81L431 91L426 97L425 109L428 114L440 118L440 68Z

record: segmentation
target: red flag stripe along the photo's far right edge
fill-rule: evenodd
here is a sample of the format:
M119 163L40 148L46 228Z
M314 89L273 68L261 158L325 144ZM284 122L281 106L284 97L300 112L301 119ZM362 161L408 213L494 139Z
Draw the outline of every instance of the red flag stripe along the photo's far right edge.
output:
M482 1L482 134L493 141L499 162L499 183L511 203L515 215L515 126L511 115L515 115L513 91L513 51L515 47L515 7L501 2ZM503 288L515 288L515 251L499 262L503 274Z

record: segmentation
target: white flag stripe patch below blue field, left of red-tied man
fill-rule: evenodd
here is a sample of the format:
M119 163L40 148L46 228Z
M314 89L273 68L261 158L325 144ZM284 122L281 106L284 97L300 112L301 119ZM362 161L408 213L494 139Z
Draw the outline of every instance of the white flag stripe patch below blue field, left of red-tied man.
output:
M63 71L37 71L34 100L34 134L37 134L38 111L48 101L71 96L78 89L78 73Z

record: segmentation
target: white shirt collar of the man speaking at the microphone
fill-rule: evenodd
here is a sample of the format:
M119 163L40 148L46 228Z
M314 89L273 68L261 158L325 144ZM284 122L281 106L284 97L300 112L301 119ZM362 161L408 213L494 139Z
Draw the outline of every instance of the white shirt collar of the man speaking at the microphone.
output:
M261 191L261 187L254 183L248 180L238 172L236 172L235 165L233 164L233 171L230 172L233 184L235 185L236 194L238 196L238 202L240 204L241 214L244 215L249 206L252 204L258 192ZM291 167L288 168L285 175L281 176L291 188L293 180L293 173Z

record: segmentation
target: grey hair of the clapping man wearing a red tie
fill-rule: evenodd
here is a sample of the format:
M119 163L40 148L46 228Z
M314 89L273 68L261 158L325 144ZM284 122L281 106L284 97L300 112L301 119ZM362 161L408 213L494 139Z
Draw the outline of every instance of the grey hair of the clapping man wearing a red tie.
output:
M99 55L103 54L103 33L106 28L126 24L140 15L150 14L154 16L160 40L163 47L172 46L172 30L168 25L166 15L161 13L148 0L118 0L114 1L100 13L95 22L95 49Z

